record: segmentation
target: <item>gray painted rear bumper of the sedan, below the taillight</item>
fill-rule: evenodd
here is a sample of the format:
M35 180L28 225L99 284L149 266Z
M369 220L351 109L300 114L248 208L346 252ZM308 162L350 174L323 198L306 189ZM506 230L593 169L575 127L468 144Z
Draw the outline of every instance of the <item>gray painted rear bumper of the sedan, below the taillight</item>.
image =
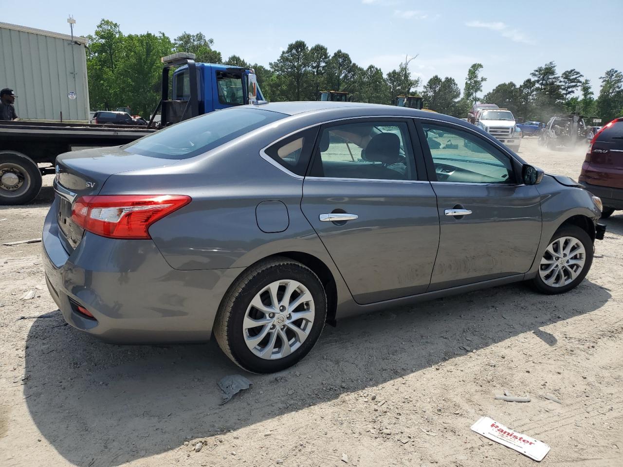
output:
M221 298L239 269L179 271L151 240L116 240L89 232L68 254L55 212L56 202L45 219L42 256L48 290L67 323L125 344L210 338ZM78 313L76 305L95 319Z

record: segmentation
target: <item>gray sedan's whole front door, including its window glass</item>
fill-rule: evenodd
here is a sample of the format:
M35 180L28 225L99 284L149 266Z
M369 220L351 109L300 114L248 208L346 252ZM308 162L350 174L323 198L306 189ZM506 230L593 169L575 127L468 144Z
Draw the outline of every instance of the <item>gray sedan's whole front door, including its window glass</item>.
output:
M440 222L429 291L526 273L541 238L536 187L518 183L519 164L480 134L424 119L421 129Z

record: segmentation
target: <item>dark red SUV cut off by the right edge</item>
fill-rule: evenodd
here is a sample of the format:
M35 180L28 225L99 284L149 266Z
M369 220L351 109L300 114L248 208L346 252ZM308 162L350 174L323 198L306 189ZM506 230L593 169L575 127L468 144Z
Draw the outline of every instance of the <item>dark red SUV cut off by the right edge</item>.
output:
M601 217L623 209L623 117L612 120L591 139L579 182L601 198Z

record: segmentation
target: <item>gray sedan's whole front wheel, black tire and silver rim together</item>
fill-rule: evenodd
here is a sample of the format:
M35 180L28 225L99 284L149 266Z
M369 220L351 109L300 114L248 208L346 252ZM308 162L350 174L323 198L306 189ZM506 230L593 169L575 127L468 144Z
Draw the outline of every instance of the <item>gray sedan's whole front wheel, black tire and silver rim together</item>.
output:
M586 231L564 225L550 240L532 283L536 290L547 294L569 291L586 277L592 255L592 240Z

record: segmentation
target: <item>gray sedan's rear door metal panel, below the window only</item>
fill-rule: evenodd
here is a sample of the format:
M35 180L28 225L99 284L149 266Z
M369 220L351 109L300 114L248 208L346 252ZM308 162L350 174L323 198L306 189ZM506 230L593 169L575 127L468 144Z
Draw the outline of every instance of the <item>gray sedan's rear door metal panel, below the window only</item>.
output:
M439 243L429 182L307 177L301 207L358 303L427 290ZM343 225L319 219L331 212L358 218Z

